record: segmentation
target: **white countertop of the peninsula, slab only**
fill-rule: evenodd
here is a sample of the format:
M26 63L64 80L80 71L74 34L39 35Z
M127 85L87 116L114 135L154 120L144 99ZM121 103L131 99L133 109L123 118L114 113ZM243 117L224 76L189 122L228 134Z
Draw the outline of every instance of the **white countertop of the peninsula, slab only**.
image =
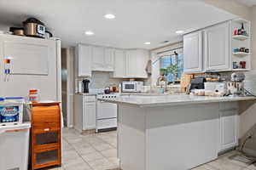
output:
M149 95L121 95L116 99L99 99L115 104L134 105L139 107L154 107L161 105L190 105L213 102L255 100L256 97L209 97L190 96L186 94L149 94Z

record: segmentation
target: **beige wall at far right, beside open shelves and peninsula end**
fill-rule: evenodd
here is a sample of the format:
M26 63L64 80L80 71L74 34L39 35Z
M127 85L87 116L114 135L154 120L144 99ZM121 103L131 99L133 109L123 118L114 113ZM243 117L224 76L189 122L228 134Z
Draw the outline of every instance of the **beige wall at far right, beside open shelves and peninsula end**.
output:
M256 5L248 7L233 0L203 0L215 7L222 8L246 20L251 20L252 27L252 69L256 70ZM241 143L248 134L253 134L253 139L247 141L246 150L256 154L256 104L255 102L241 102L240 104L240 139Z

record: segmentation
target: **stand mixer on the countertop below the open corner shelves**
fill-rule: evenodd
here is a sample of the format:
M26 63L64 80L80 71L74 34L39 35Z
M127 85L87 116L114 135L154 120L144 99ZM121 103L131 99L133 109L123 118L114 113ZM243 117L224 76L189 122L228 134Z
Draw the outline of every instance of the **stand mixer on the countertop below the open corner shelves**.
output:
M228 82L228 92L230 96L244 96L245 75L242 72L234 72L231 74L231 81Z

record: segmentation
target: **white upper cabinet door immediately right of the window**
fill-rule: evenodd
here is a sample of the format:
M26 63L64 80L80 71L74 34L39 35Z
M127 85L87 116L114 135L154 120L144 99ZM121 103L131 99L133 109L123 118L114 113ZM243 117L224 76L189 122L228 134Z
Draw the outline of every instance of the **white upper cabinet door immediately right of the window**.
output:
M202 63L202 31L183 37L184 72L203 71Z

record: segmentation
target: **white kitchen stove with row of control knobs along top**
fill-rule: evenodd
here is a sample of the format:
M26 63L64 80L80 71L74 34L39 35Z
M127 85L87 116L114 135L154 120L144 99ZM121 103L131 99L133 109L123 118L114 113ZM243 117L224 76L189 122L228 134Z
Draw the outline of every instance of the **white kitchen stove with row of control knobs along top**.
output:
M98 94L97 99L115 99L119 94ZM117 105L105 101L96 102L96 133L116 130Z

